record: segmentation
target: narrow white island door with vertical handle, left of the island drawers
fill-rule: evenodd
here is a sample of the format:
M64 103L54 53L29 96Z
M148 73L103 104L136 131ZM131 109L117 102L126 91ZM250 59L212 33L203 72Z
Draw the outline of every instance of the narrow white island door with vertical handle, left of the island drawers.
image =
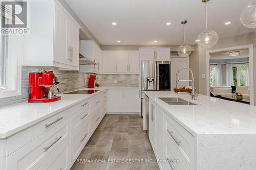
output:
M149 135L153 150L156 152L156 107L150 102Z

